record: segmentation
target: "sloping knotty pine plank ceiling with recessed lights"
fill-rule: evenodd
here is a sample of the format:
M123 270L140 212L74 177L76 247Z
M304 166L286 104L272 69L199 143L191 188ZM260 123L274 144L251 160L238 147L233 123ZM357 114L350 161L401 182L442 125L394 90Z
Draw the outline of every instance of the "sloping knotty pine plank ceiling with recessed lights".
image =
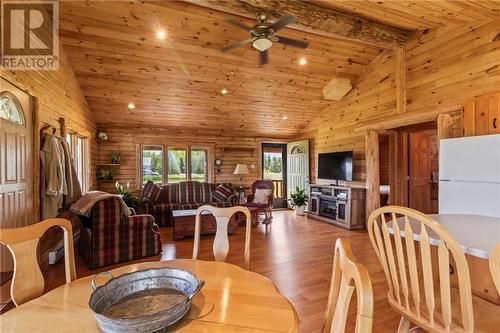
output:
M260 66L250 46L220 51L249 37L224 22L236 17L226 13L184 2L64 1L60 11L64 50L98 125L105 126L290 137L331 103L321 90L332 77L355 79L381 52L283 29L280 35L308 40L309 48L275 44L270 63ZM165 41L156 38L160 28Z

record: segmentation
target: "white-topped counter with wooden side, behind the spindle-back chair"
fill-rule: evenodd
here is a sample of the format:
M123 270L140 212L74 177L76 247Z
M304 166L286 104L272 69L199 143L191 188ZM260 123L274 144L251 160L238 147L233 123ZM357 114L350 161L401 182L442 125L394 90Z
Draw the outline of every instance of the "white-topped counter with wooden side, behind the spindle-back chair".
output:
M441 224L448 233L460 244L469 266L472 294L500 305L500 295L493 282L489 269L489 257L495 246L500 243L500 218L474 214L429 214ZM404 218L397 218L401 236L404 236ZM413 239L420 240L421 224L409 219L413 231ZM388 222L389 233L394 231L392 221ZM435 248L440 239L432 230L428 230L429 242ZM437 254L433 251L433 263L437 263ZM454 276L455 263L450 262L451 285L457 286Z

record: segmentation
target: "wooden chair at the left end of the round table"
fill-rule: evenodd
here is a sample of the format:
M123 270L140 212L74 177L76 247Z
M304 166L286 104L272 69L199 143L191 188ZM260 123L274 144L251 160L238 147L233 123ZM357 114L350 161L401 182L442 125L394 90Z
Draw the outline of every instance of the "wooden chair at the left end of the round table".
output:
M66 283L70 283L76 279L76 269L73 228L68 220L55 218L27 227L0 229L0 243L9 248L14 258L10 295L16 306L43 295L45 280L38 266L37 246L43 234L54 226L59 226L64 231Z

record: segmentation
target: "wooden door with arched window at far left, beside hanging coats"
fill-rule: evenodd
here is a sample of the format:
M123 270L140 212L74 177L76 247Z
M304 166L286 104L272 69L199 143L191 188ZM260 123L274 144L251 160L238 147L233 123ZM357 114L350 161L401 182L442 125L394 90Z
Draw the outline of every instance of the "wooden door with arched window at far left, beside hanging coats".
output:
M33 102L30 95L0 79L0 228L33 223ZM0 247L0 270L12 258Z

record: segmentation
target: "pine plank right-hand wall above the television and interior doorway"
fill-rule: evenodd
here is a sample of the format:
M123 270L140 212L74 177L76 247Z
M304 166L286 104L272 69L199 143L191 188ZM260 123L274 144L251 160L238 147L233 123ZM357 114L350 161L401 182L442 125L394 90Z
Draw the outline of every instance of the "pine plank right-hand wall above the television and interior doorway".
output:
M327 107L300 137L312 138L320 152L354 150L355 180L366 180L366 129L387 129L434 120L463 101L499 90L500 26L478 22L421 32L405 47L406 110L396 110L396 61L385 51L368 67L344 99ZM460 135L461 117L454 116Z

